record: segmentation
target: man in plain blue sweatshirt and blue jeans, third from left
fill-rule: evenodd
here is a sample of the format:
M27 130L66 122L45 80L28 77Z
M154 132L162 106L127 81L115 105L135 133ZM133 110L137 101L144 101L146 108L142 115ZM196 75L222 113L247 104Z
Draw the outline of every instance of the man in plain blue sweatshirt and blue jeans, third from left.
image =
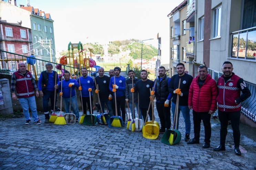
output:
M79 87L79 83L75 79L70 79L70 72L64 72L64 80L60 82L62 83L62 92L61 85L59 86L60 96L62 96L64 108L66 113L69 113L69 101L70 101L70 90L71 90L71 109L73 110L73 114L76 117L76 122L78 122L79 111L78 104L76 100L75 87ZM71 88L71 89L70 89Z

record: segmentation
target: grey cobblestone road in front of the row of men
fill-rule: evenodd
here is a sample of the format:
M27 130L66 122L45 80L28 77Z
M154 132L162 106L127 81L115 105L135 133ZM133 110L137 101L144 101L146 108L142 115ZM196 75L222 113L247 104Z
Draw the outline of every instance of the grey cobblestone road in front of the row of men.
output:
M40 117L44 122L44 115ZM256 169L254 140L242 135L241 145L243 140L251 141L242 156L234 154L232 144L226 145L226 151L215 152L219 131L212 131L211 147L203 149L201 128L200 144L187 145L182 117L181 142L172 146L161 143L163 134L150 140L124 127L24 123L24 117L0 121L0 169ZM192 139L192 116L191 123ZM232 141L232 133L228 137Z

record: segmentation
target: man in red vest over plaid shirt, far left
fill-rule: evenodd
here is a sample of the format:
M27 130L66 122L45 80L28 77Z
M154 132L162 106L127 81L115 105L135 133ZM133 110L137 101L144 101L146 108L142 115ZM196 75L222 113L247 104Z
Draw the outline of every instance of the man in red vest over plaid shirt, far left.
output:
M25 63L19 63L19 70L12 74L11 78L11 93L12 99L19 99L23 114L26 119L25 125L31 123L29 117L29 107L32 112L32 117L35 125L40 125L39 118L37 115L37 104L35 103L35 95L39 97L37 84L31 73L27 70ZM35 92L34 92L35 91ZM17 96L15 94L17 92Z

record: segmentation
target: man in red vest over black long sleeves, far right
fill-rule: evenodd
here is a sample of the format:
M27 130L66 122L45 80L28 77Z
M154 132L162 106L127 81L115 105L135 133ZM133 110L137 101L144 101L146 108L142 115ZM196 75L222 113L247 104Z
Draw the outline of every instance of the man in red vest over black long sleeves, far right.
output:
M222 65L223 75L217 81L218 88L218 116L221 122L220 142L215 151L225 150L225 141L227 136L228 118L230 118L233 129L233 137L235 144L235 154L242 155L239 149L240 145L240 112L241 102L250 97L251 93L244 80L235 75L233 65L229 61L225 61ZM241 94L242 91L242 95Z

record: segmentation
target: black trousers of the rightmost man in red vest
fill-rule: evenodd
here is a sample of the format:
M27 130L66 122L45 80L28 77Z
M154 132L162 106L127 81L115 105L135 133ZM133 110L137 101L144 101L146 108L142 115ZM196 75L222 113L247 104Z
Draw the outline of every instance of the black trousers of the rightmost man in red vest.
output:
M233 137L234 137L234 144L235 148L239 148L240 145L240 129L239 129L239 122L240 122L240 111L235 112L223 112L218 111L219 121L221 122L221 141L220 145L225 146L226 136L227 136L227 125L228 125L228 118L231 121L231 126L233 129Z

